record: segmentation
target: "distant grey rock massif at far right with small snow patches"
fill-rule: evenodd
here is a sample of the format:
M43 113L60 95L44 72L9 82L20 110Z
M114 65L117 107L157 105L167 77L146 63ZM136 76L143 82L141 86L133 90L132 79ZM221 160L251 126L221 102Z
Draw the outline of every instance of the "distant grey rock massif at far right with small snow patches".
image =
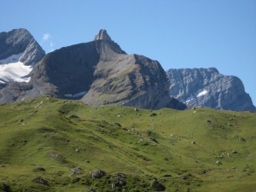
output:
M170 94L189 106L255 111L241 79L218 73L216 68L169 69Z

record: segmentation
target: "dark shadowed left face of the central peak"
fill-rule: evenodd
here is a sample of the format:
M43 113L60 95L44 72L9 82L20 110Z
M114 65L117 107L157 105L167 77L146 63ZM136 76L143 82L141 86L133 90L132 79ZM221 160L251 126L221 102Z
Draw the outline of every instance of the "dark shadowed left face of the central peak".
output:
M99 61L96 44L76 44L45 55L32 72L31 82L42 84L43 94L65 98L88 91Z

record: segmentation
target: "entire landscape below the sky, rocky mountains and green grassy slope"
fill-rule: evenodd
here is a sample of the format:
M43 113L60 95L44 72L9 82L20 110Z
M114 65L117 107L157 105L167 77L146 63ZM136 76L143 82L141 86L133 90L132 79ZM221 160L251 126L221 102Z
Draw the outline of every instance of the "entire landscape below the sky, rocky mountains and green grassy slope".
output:
M0 191L256 189L255 107L240 79L165 72L106 30L47 55L25 29L0 37Z

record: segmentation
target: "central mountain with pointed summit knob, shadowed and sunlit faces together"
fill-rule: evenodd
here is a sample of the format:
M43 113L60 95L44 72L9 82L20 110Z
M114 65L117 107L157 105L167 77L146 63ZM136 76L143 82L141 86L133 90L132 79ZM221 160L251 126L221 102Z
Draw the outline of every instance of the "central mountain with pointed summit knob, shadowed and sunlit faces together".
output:
M8 84L0 90L0 102L51 95L60 98L83 95L90 106L107 104L159 109L172 105L170 83L158 61L143 55L127 55L101 30L95 40L57 49L38 62L29 84ZM74 97L73 97L74 98Z

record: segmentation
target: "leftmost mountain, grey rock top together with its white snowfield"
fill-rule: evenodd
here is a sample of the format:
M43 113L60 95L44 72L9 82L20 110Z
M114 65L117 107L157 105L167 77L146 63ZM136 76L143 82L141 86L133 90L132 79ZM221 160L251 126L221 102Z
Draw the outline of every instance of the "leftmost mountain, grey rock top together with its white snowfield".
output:
M0 89L9 82L28 82L32 67L44 55L26 29L0 32Z

